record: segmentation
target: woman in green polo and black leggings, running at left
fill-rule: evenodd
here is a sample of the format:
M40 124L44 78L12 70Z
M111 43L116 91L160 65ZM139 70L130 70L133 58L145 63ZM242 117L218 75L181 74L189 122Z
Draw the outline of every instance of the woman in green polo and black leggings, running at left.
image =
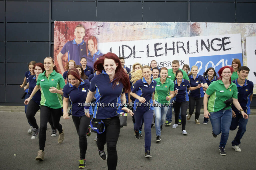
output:
M64 139L64 131L60 122L62 115L62 88L65 81L60 73L56 72L54 60L51 57L44 59L45 71L38 75L37 83L30 97L25 100L28 104L34 94L41 88L41 113L40 113L40 130L39 130L39 151L36 160L44 160L44 149L46 141L46 128L49 117L52 117L53 125L59 131L58 143Z

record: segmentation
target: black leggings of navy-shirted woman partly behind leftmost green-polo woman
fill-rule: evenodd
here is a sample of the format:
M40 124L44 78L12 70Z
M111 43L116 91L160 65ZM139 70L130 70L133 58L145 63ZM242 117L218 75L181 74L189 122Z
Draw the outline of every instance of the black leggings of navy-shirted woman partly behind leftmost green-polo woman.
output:
M26 116L28 119L28 122L32 125L32 127L34 128L38 128L38 125L36 123L36 112L40 109L40 106L34 101L34 100L30 100L30 102L28 103L28 107L27 107L27 112L26 112ZM52 117L49 117L48 120L49 124L51 125L51 129L55 129L52 123Z

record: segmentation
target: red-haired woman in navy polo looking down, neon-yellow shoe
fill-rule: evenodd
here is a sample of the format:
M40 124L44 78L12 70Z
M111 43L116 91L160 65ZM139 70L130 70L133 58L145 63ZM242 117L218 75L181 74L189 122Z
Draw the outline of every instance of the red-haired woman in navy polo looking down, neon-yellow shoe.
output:
M67 76L69 83L62 89L64 97L63 118L69 119L67 109L68 101L70 100L70 111L74 125L76 126L77 134L79 136L80 160L78 168L85 168L85 155L87 150L86 133L92 118L92 108L90 107L90 116L87 117L84 114L84 108L79 105L81 103L85 103L85 99L90 87L90 82L89 80L82 80L79 76L79 71L76 68L69 69Z

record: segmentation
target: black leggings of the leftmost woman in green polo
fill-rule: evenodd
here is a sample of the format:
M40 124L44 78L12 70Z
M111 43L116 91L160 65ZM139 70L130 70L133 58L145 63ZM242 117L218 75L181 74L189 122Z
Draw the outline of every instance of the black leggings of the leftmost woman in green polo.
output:
M40 130L39 130L39 149L45 150L46 141L46 128L47 121L52 117L53 126L58 129L59 133L62 133L62 125L60 124L60 116L62 114L62 108L52 109L47 106L41 106L40 113Z

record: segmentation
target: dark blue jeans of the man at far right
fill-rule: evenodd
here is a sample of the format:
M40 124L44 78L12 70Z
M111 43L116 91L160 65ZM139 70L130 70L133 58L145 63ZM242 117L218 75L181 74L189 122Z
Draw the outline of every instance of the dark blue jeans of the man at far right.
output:
M250 114L248 114L248 116L249 115ZM242 139L243 134L246 132L246 125L247 125L248 119L244 119L241 114L237 114L236 117L232 118L230 130L235 130L239 125L237 135L235 139L231 142L232 146L239 145L241 143L240 140Z

